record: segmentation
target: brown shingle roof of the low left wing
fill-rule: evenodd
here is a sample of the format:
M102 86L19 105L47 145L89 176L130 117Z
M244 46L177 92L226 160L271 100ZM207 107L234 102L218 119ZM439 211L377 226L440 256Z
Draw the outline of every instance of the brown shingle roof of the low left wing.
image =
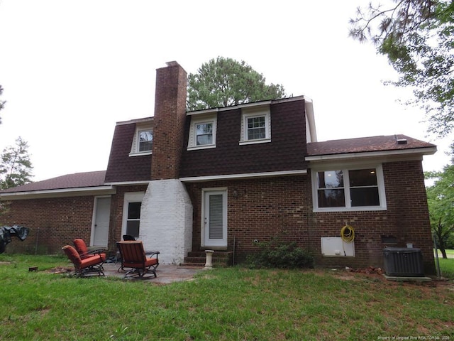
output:
M74 173L62 175L35 183L28 183L15 188L0 190L1 193L32 192L36 190L59 190L64 188L87 188L104 185L106 171Z

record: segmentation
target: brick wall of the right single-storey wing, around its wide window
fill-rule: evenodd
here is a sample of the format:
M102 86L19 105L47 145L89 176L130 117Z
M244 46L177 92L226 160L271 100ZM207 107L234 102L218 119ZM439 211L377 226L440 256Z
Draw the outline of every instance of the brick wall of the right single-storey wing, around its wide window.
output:
M387 198L385 211L316 212L309 229L318 244L319 264L327 266L383 267L384 247L406 247L411 242L421 249L426 274L435 273L431 227L428 220L426 189L420 161L383 164ZM355 257L322 257L320 237L339 237L341 227L355 229ZM382 242L392 236L397 244Z

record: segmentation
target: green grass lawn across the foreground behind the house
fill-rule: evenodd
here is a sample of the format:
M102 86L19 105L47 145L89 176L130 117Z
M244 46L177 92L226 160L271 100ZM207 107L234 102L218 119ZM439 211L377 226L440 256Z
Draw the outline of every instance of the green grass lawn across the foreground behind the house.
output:
M234 267L158 286L45 271L56 266L67 261L0 255L0 340L454 340L452 281Z

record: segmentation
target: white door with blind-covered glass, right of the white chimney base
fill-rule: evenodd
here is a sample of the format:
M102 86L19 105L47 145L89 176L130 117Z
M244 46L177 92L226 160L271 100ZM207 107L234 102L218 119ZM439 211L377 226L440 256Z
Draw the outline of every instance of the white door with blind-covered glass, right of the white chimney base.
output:
M204 247L227 247L227 190L204 191Z

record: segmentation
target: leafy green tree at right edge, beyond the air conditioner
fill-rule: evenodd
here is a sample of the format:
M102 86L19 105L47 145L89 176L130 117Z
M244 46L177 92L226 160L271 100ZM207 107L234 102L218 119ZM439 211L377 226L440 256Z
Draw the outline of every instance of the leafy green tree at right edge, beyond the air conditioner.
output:
M435 180L426 188L432 233L443 258L450 247L454 232L454 164L441 172L428 172L426 179Z

